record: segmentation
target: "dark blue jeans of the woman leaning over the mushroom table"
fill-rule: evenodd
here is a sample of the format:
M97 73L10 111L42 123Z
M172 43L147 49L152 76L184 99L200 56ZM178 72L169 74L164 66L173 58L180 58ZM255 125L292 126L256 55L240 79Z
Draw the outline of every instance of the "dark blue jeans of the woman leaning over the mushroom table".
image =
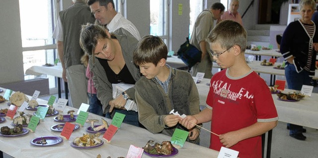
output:
M124 123L131 124L131 125L134 125L137 127L143 127L143 125L141 123L139 123L139 121L138 121L138 112L136 112L136 111L127 111L124 109L114 108L112 113L107 112L105 117L113 119L112 114L115 112L119 112L119 113L126 115L124 120L123 120Z

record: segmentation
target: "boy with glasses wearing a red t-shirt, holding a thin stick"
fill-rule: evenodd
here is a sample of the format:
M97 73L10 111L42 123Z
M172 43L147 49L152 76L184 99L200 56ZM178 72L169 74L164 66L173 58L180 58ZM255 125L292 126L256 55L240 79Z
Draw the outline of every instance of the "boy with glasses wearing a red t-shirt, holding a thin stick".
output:
M246 61L247 33L236 21L221 21L208 35L213 59L224 70L213 75L206 107L198 114L180 117L188 129L211 121L210 148L239 152L239 158L262 158L261 135L277 125L272 94Z

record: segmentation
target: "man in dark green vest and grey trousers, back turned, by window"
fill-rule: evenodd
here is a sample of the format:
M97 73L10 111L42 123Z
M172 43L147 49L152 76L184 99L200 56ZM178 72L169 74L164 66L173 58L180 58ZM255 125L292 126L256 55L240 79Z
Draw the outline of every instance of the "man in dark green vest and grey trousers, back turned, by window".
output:
M79 32L82 24L93 23L94 17L86 4L87 0L72 0L73 5L60 11L53 37L62 63L62 78L68 82L71 103L79 108L87 103L85 67L80 63L84 54L79 46Z

